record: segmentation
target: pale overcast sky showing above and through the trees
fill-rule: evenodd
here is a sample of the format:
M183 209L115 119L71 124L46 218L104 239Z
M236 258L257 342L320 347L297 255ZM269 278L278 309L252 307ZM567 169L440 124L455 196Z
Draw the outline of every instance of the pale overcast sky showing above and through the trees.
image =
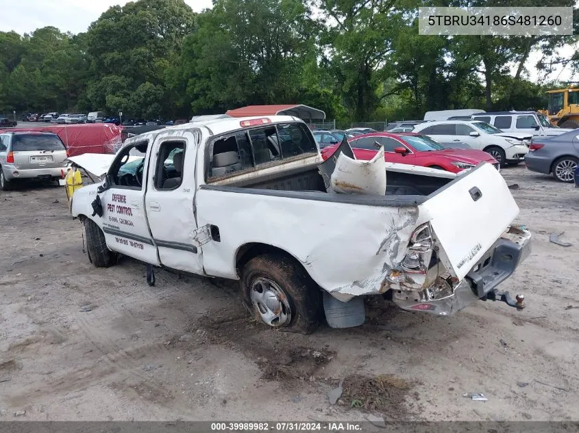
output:
M124 5L127 0L0 0L0 31L14 30L19 34L31 33L32 31L51 25L60 31L70 31L73 34L86 31L90 23L97 21L99 16L112 5ZM212 7L211 0L185 0L185 3L195 12L201 12ZM578 0L579 3L579 0ZM576 44L579 45L579 44ZM576 48L575 48L576 49ZM571 56L574 47L564 47L560 51L565 56ZM537 81L539 73L534 64L541 59L540 53L531 53L526 67L529 70L528 79ZM513 70L514 73L514 70ZM571 77L569 68L558 68L548 77L541 78L559 79L568 81L579 79Z

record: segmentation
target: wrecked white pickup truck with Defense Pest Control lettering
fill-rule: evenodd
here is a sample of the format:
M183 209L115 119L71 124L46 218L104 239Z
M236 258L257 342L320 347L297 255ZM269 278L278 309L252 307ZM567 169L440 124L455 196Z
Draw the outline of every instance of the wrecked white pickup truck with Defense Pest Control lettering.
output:
M365 296L441 316L476 300L524 306L497 290L530 233L512 225L519 209L493 166L456 175L384 163L378 194L338 194L347 155L344 142L323 162L291 116L190 122L126 140L71 211L93 265L125 254L240 280L251 314L284 330L312 332L323 312L335 328L362 324ZM87 155L70 159L82 157L90 171Z

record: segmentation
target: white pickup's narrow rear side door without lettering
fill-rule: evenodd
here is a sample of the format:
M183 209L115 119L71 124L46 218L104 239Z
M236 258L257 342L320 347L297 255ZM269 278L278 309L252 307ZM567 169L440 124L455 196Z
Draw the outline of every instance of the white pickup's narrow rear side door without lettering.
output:
M195 160L200 136L182 131L153 144L145 206L162 265L203 274L195 222Z

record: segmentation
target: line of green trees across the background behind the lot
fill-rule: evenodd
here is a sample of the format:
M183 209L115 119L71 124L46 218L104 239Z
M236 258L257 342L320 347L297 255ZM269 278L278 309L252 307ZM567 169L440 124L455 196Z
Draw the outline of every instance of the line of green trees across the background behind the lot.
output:
M417 8L506 0L183 0L113 6L85 33L0 32L0 110L108 111L188 118L243 105L303 103L339 123L421 118L436 109L540 109L546 75L577 36L419 36ZM521 0L517 6L544 6ZM549 6L575 6L551 0ZM579 14L574 10L575 33ZM510 73L514 71L514 74Z

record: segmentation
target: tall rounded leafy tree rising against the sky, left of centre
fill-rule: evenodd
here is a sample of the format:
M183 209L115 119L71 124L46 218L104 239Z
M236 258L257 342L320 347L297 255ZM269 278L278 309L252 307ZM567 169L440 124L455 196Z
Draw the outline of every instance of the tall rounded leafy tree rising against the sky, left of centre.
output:
M139 0L109 8L86 33L90 104L136 116L171 111L171 101L164 99L167 69L193 31L195 14L183 0ZM137 92L134 98L142 100L145 89L154 90L154 108L131 99Z

